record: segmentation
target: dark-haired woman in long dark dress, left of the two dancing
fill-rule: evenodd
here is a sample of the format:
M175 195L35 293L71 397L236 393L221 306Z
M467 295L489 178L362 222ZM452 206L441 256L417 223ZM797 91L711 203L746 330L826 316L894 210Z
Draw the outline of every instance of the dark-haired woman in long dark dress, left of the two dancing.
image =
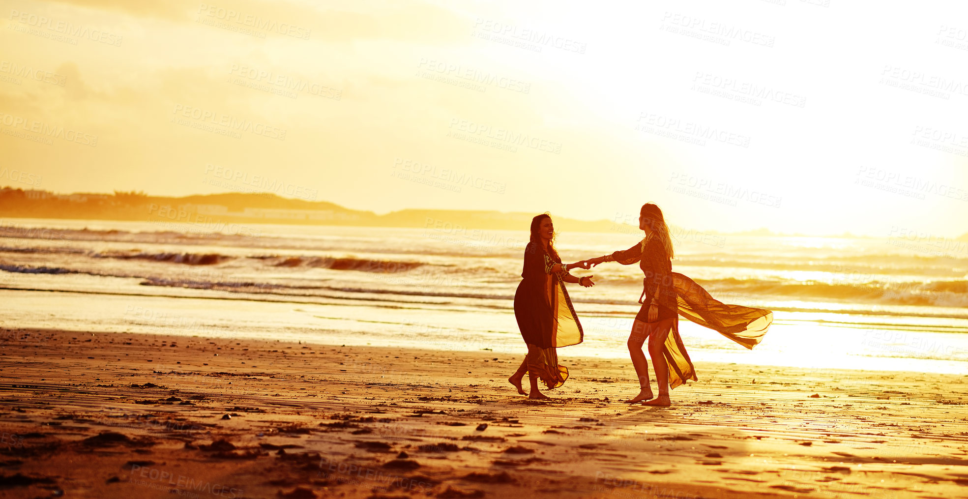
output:
M568 369L559 365L556 349L581 343L584 336L564 283L578 283L586 288L594 285L592 276L579 279L568 273L570 268L587 266L581 262L562 264L554 241L555 226L548 213L531 219L522 280L514 294L514 318L528 344L528 356L507 379L518 393L528 398L548 398L538 390L538 379L549 390L564 384ZM530 393L521 387L526 372L531 383Z

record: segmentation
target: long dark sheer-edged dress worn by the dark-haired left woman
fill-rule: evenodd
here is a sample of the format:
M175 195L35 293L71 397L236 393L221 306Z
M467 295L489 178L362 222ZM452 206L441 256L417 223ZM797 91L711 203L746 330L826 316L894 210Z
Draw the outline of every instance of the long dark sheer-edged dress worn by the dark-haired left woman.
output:
M521 284L514 294L514 318L518 321L529 349L526 359L529 376L537 376L549 389L556 389L568 379L568 368L559 365L558 351L581 343L585 333L571 305L562 278L566 271L553 272L560 264L557 257L529 242L525 248L525 265Z

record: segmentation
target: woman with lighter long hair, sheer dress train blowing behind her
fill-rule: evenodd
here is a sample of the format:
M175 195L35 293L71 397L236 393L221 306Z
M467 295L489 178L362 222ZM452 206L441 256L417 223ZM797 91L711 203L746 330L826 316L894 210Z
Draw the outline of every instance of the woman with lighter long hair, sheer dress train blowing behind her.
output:
M671 404L670 389L680 386L685 380L696 381L692 360L682 345L678 315L710 327L752 349L766 334L773 313L760 308L725 304L712 298L692 279L673 272L672 238L662 210L656 204L642 205L639 229L646 233L641 242L627 250L593 258L585 263L593 266L603 262L618 262L621 265L638 262L645 273L642 296L639 296L642 308L635 316L627 343L641 390L626 402L668 406ZM642 352L642 345L647 339L649 356L655 369L655 382L659 388L659 396L654 400L650 400L649 361Z

